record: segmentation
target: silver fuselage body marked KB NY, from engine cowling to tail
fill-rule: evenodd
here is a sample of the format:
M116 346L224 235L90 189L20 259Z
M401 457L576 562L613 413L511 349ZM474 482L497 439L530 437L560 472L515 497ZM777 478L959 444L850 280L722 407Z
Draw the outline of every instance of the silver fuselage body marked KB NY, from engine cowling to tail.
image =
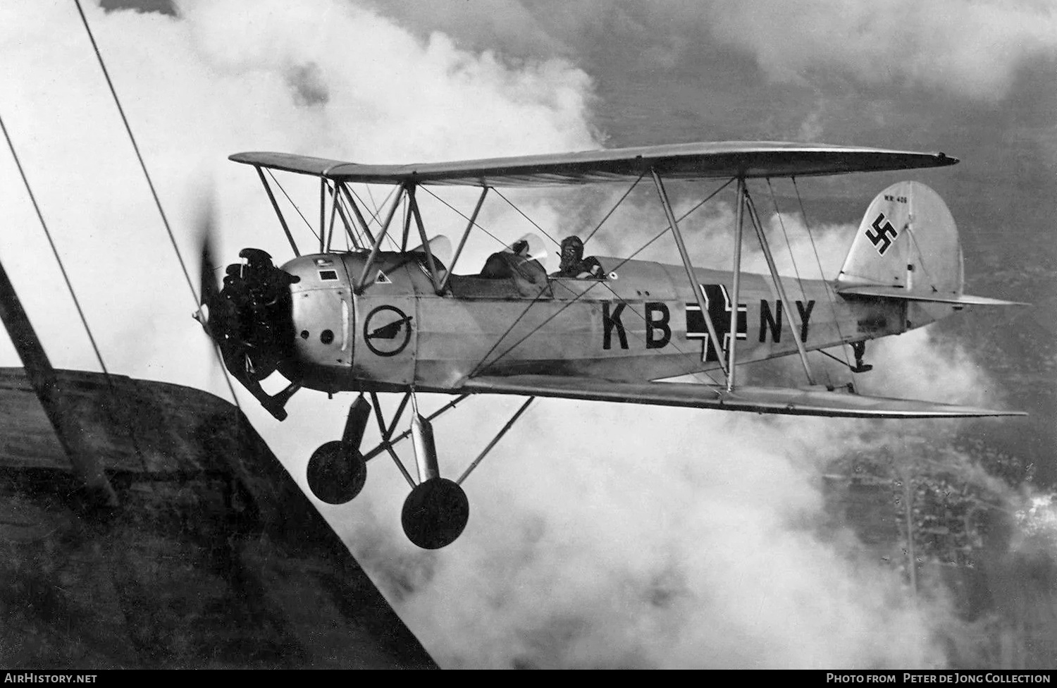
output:
M828 282L794 278L784 279L793 302L783 303L768 276L742 274L731 329L731 274L698 269L723 341L717 349L682 266L599 257L605 280L526 286L514 278L504 284L453 276L452 289L438 296L418 255L379 253L355 294L366 259L304 256L283 267L301 277L291 287L297 362L288 368L299 374L295 382L324 391L458 391L467 376L485 373L644 382L718 369L731 330L737 359L748 362L796 353L794 334L820 349L898 334L946 314L919 309L910 322L904 301L846 298ZM320 278L332 268L336 281ZM326 330L335 334L329 342Z

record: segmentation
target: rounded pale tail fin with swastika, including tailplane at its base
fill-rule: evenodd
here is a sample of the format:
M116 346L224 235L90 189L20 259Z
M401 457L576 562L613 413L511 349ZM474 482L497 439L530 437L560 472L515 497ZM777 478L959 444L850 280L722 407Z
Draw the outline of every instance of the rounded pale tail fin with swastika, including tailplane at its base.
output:
M940 194L900 182L874 198L837 276L837 292L917 302L1005 305L966 296L958 226Z

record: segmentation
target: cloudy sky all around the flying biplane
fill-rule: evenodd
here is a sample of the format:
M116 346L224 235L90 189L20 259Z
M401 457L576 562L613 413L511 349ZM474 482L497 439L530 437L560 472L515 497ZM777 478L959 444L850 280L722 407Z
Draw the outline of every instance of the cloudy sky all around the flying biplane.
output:
M1026 422L972 431L1017 436L1018 451L1052 470L1057 14L1047 2L85 5L192 275L197 218L210 200L221 256L243 246L290 256L253 170L226 160L242 150L398 163L789 140L956 155L953 168L910 178L947 199L967 291L1034 305L871 345L876 369L857 383L883 395L1026 405ZM228 396L73 3L0 6L0 116L107 366ZM870 200L898 179L804 182L806 218L776 183L781 221L773 210L765 221L790 230L798 264L811 268L817 247L832 277ZM98 370L6 155L0 183L11 190L0 255L53 364ZM314 188L286 188L311 219ZM754 191L771 207L766 189ZM619 192L511 198L541 226L582 234ZM676 205L694 194L680 187ZM476 192L442 196L465 212ZM720 198L688 221L702 265L729 256L730 208ZM435 202L424 211L431 229L461 227ZM634 250L663 222L636 191L592 247ZM498 204L482 224L508 239L530 229ZM310 238L302 226L300 241ZM475 241L466 265L495 248ZM671 246L653 250L675 261ZM747 266L762 268L746 250ZM0 365L18 365L6 341ZM338 436L351 401L301 392L279 424L241 396L302 485L309 454ZM438 421L442 471L460 472L519 402L469 399ZM545 401L467 480L469 525L445 550L404 539L406 485L381 461L352 504L319 507L441 666L940 667L950 661L943 638L959 631L942 591L915 605L853 534L823 528L820 475L834 459L960 431L967 426Z

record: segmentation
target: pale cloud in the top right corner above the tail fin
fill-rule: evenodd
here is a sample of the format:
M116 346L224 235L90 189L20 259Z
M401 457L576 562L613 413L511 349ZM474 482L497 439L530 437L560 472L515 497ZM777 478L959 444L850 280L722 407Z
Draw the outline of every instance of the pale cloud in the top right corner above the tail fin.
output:
M998 100L1022 64L1057 57L1050 3L750 0L705 14L715 39L748 51L776 81L836 74Z

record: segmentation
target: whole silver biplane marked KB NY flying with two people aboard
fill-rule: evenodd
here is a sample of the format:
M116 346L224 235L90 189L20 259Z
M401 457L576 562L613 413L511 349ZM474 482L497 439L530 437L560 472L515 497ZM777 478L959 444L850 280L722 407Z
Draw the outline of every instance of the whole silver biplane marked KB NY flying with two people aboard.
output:
M917 182L885 189L868 206L839 275L800 280L779 275L746 183L958 162L944 153L727 142L419 165L274 152L230 160L256 168L295 257L276 266L263 250L243 249L243 262L229 265L218 286L206 242L197 317L231 375L280 421L300 388L358 392L341 439L313 453L309 486L324 502L345 503L361 489L366 463L389 453L411 486L404 531L421 547L444 546L462 533L469 505L460 484L537 397L868 419L1018 414L868 396L853 385L821 385L812 370L811 351L849 347L855 357L849 368L863 372L870 369L863 360L870 339L966 306L1009 303L963 293L958 230L934 191ZM275 171L319 179L318 250L300 253L265 176L276 182ZM666 182L709 180L722 186L706 201L727 187L736 198L733 266L726 272L692 264L666 188ZM467 237L483 229L477 219L489 191L620 184L628 191L619 205L643 182L653 186L663 211L664 229L654 239L670 235L679 262L585 257L579 239L552 238L551 248L532 233L483 265L458 272ZM353 184L388 185L391 201L372 213ZM416 192L430 186L481 189L470 213L463 215L467 223L453 254L450 241L429 237L423 222ZM401 207L402 222L394 222ZM759 241L769 274L742 271L746 229ZM335 249L342 230L348 246ZM560 268L548 273L546 255L559 246ZM739 366L779 356L799 357L803 386L740 383ZM261 380L276 371L290 384L268 394ZM715 382L671 382L701 373ZM388 422L378 403L384 392L403 395ZM455 398L424 415L419 393ZM431 421L472 394L527 399L462 477L442 478ZM410 427L397 432L409 404ZM364 450L372 409L381 443ZM418 480L393 449L408 436Z

